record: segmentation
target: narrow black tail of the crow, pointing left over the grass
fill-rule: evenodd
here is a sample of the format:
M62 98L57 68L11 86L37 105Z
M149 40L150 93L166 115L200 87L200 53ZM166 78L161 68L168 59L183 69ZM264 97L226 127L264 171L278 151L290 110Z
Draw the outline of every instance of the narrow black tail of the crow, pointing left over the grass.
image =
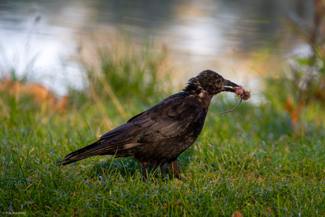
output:
M85 158L89 158L91 156L96 156L94 149L95 146L98 145L98 141L95 143L90 144L89 146L85 146L84 148L81 148L77 151L73 151L72 153L69 153L69 155L65 156L64 158L57 160L57 165L67 165L69 163L76 162L78 160L83 160Z

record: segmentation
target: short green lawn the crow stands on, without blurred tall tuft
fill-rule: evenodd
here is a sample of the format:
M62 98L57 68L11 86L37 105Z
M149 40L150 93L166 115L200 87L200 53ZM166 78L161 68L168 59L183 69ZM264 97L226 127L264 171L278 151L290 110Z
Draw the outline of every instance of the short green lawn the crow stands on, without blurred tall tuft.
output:
M165 98L167 95L162 96ZM148 172L132 158L93 157L58 168L54 161L123 123L92 103L41 114L30 98L1 95L0 211L27 216L323 216L322 127L295 134L288 115L217 96L198 141L179 156L184 182ZM19 104L17 102L20 102ZM126 108L127 116L143 107ZM116 117L116 118L114 118Z

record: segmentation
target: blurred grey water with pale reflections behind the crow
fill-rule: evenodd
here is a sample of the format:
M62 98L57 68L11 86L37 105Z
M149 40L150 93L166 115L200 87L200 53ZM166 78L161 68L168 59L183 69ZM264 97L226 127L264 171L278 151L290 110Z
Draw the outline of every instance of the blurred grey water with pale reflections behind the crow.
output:
M0 66L23 73L33 61L38 78L63 94L66 75L76 83L80 77L78 67L63 61L80 40L129 35L137 42L149 35L168 45L186 71L229 74L229 65L236 69L276 34L282 18L311 14L312 1L304 0L0 0Z

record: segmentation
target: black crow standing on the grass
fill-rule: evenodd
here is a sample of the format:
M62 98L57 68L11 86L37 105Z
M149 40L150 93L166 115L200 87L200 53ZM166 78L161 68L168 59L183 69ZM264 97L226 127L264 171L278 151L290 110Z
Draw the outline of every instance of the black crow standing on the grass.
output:
M132 117L95 143L69 153L57 164L66 165L91 156L132 156L140 161L144 177L148 165L169 163L172 174L181 180L177 157L201 133L213 95L223 91L235 93L232 87L239 86L215 71L202 71L187 82L183 92Z

